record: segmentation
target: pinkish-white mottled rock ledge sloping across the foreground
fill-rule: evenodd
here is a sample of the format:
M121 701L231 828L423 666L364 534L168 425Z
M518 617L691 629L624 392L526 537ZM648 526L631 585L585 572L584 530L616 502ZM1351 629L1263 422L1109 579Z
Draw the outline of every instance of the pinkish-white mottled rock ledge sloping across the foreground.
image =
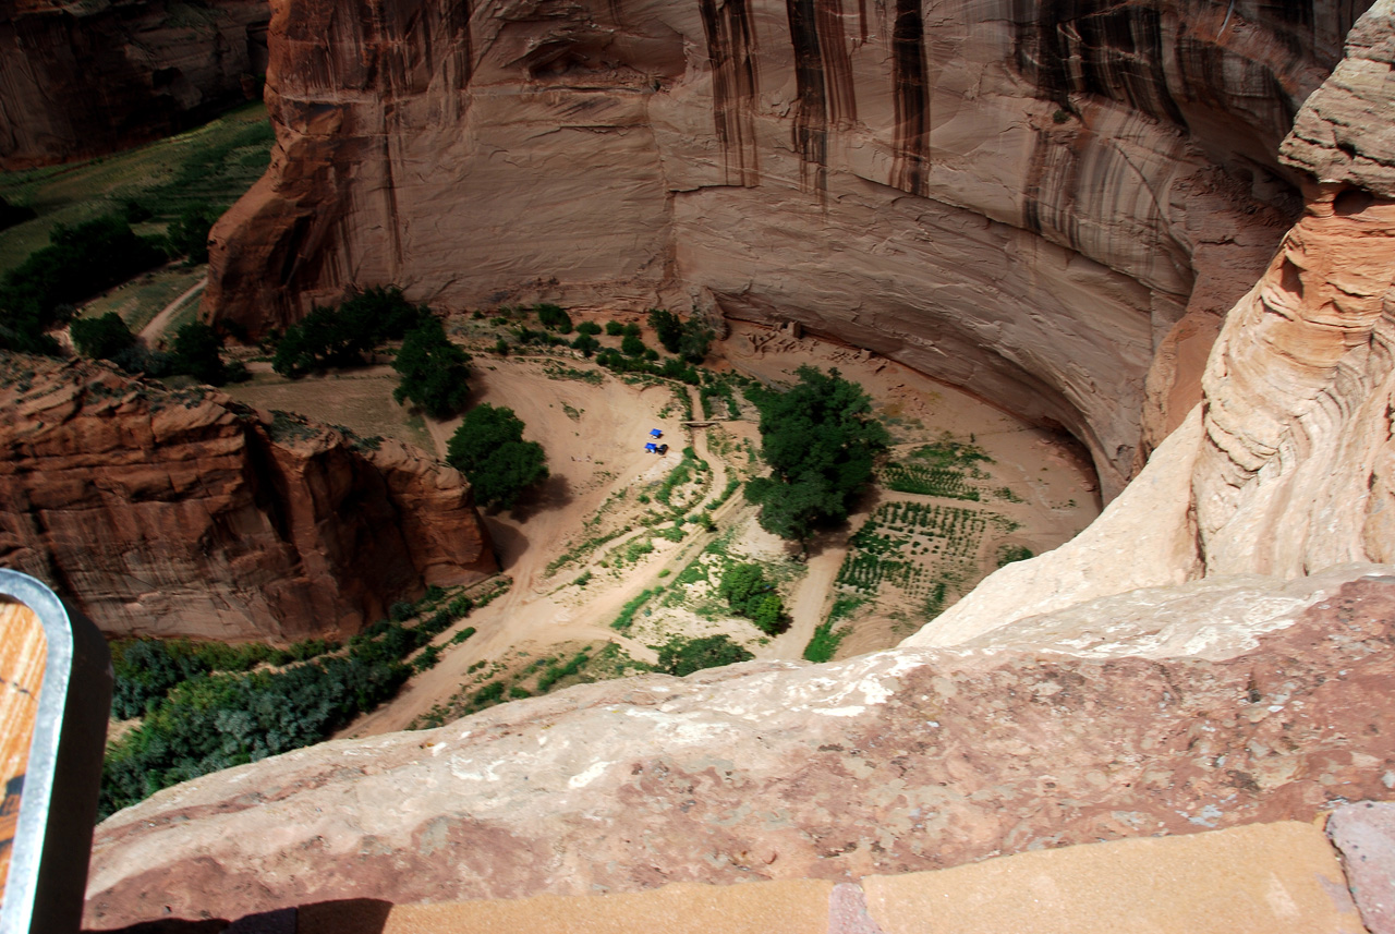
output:
M1290 594L1282 620L1209 658L1163 657L1141 609L1084 658L749 662L206 775L98 828L86 923L841 880L1307 821L1389 796L1395 579L1360 573L1306 609L1313 594ZM1251 587L1183 594L1187 625L1233 615Z

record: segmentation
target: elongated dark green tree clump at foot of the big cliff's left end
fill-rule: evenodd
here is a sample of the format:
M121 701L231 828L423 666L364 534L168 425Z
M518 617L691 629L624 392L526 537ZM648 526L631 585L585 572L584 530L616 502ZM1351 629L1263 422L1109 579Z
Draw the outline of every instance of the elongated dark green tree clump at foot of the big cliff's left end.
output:
M385 340L398 340L430 315L425 305L412 305L396 286L354 293L338 308L310 309L276 343L272 369L299 376L307 369L350 367Z

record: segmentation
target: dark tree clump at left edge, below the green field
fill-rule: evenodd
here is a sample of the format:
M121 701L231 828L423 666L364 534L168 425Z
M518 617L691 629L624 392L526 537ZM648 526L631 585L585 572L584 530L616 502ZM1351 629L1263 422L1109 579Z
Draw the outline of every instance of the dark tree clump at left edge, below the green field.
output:
M163 262L148 237L116 215L68 227L57 224L36 250L0 280L0 350L52 354L47 330L75 301Z

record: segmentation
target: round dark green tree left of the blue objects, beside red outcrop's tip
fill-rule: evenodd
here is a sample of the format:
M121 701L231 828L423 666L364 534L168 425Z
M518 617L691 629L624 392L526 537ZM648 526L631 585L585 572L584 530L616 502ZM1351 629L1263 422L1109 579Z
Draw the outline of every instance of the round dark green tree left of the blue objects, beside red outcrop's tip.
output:
M478 502L512 509L519 493L547 478L547 454L523 441L523 421L512 408L476 406L446 445L446 463L474 488Z

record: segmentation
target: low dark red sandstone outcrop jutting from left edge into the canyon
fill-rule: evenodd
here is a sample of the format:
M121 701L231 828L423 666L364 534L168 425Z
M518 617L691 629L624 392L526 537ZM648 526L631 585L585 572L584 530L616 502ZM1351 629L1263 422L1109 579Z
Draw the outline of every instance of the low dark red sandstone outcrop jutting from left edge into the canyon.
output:
M103 631L343 636L495 569L469 485L417 450L88 362L3 367L0 563Z

